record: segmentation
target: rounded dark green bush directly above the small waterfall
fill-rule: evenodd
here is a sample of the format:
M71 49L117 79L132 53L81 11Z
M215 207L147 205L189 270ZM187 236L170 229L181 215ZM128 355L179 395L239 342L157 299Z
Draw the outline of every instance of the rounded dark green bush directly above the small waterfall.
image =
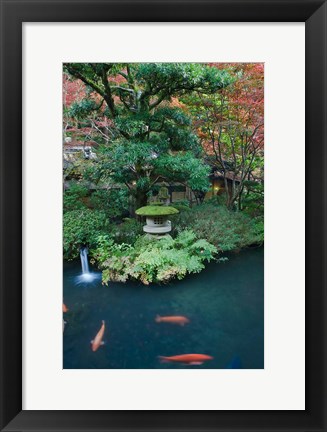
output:
M64 258L79 256L81 246L94 248L101 233L108 232L108 219L104 212L90 209L72 210L64 214Z

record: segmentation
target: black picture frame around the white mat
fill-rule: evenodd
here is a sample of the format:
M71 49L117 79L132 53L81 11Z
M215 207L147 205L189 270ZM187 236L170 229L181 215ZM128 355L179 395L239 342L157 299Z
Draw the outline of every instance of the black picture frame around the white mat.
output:
M305 22L305 411L22 411L22 23L106 21ZM326 430L326 22L325 0L1 0L1 430Z

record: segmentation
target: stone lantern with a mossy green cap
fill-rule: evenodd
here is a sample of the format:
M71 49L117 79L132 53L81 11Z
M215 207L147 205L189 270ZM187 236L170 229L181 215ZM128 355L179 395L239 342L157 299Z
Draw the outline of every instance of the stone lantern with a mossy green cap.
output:
M138 216L146 217L144 232L158 235L167 234L171 231L171 222L168 220L168 216L179 212L170 206L149 205L137 209L135 213Z

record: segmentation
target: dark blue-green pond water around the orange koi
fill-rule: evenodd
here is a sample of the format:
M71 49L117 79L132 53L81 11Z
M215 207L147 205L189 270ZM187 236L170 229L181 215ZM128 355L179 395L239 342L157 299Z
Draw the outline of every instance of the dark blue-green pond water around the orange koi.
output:
M64 314L63 367L263 368L263 255L263 248L249 249L162 286L131 282L102 286L100 274L83 283L78 279L80 263L64 263L64 302L69 312ZM190 323L184 327L156 323L157 314L184 315ZM92 352L90 341L102 320L105 345ZM158 360L187 353L214 359L198 366Z

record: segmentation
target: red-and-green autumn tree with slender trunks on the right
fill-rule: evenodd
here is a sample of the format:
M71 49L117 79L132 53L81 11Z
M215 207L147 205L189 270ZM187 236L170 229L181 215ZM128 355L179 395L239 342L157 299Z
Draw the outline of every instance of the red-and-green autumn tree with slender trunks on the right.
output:
M208 160L224 180L226 205L242 208L246 185L263 182L263 64L212 64L230 71L234 82L212 95L184 98ZM250 188L248 189L250 190ZM262 189L261 189L262 190Z

